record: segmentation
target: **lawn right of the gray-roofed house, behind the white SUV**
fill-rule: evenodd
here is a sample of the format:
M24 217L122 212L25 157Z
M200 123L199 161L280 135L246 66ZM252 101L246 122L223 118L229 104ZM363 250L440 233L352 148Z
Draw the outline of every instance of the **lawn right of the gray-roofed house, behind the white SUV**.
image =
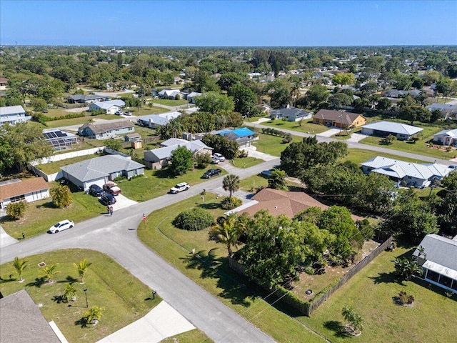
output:
M201 176L206 170L214 168L214 165L209 165L205 169L194 169L189 170L184 175L175 177L167 169L149 170L144 171L144 177L137 177L130 181L124 179L117 184L122 189L124 194L129 199L135 200L136 202L145 202L146 200L160 197L161 195L169 192L169 189L179 182L188 182L191 187L194 184L204 182L206 179L202 179ZM227 172L222 169L221 176L226 175ZM221 178L221 177L219 177ZM222 185L222 178L221 178Z

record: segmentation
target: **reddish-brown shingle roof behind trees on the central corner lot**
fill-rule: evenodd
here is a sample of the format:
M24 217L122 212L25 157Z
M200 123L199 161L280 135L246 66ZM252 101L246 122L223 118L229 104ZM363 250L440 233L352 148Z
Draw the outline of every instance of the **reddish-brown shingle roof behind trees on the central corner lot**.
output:
M328 209L327 205L318 202L313 197L304 192L286 192L278 189L264 188L252 197L258 204L241 210L238 214L247 213L253 216L261 209L268 209L273 216L284 214L286 217L293 218L296 214L309 207L319 207L322 210ZM353 220L363 219L352 215Z

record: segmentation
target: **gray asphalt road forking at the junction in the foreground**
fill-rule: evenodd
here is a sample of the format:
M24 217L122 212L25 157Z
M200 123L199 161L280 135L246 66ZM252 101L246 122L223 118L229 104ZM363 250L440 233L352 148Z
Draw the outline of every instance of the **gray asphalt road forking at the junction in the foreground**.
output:
M271 169L279 159L263 162L248 169L233 170L241 178ZM243 319L209 292L181 274L178 269L146 247L136 236L142 214L221 187L222 178L191 187L187 192L166 194L147 202L119 209L113 217L99 217L80 222L73 229L59 234L43 234L24 242L3 247L0 264L14 257L50 252L57 249L84 248L104 252L116 260L135 277L155 289L162 299L179 311L195 327L201 329L214 342L274 342L250 322ZM197 247L198 248L198 247Z

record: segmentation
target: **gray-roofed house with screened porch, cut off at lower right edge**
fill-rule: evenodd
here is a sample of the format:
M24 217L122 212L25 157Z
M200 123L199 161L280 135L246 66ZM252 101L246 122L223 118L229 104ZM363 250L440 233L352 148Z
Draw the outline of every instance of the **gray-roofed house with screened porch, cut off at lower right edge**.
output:
M457 293L457 241L438 234L427 234L413 257L423 269L423 279Z

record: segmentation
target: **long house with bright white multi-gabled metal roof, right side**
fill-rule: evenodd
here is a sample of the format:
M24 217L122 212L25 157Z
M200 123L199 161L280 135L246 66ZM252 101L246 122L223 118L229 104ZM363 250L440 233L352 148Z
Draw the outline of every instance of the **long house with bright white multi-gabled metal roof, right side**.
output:
M383 174L398 182L399 186L424 188L430 186L434 179L441 180L449 173L456 170L455 166L443 164L418 164L413 162L398 161L388 157L376 156L361 163L365 174Z

